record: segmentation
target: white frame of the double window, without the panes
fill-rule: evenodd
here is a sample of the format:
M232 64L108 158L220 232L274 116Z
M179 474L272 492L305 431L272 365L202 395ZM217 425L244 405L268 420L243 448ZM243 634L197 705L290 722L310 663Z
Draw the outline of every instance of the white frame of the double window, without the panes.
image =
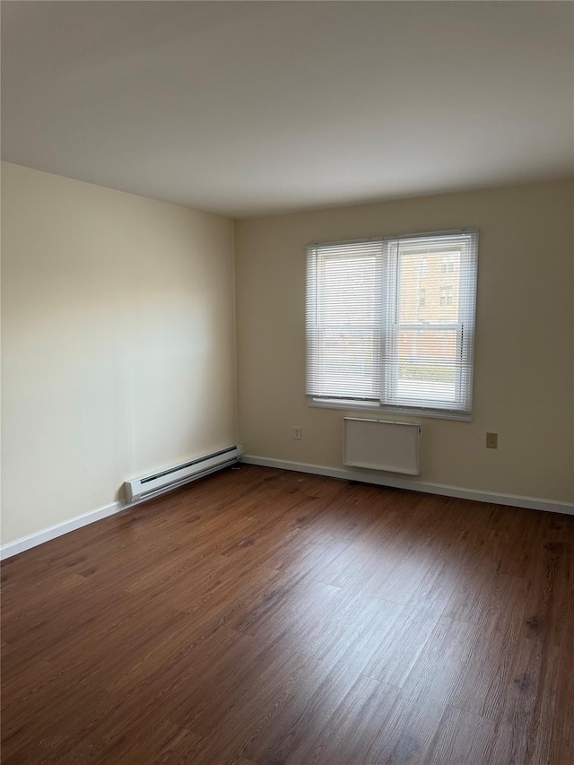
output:
M460 265L460 289L471 290L471 294L465 296L465 300L459 300L459 316L458 321L451 324L437 324L426 325L424 328L429 330L438 331L457 331L457 347L461 348L461 354L463 353L463 343L465 343L465 358L470 360L470 370L466 371L466 378L463 381L465 374L464 369L461 367L458 369L456 377L456 399L460 400L460 388L465 384L469 388L470 399L470 411L460 411L459 409L444 408L442 406L433 406L431 400L425 404L405 404L401 402L397 395L397 383L398 383L398 363L389 364L382 363L380 367L380 398L396 399L397 404L388 404L382 402L376 402L375 400L360 401L352 398L335 398L326 397L321 398L317 396L307 397L307 403L309 406L315 406L319 408L327 409L344 409L361 412L387 412L387 413L400 413L400 414L413 414L417 416L433 417L445 420L472 420L472 401L473 401L473 377L474 377L474 329L475 329L475 310L476 310L476 287L477 287L477 254L478 254L478 229L465 228L457 230L446 231L432 231L428 233L407 234L392 237L373 237L369 239L352 239L346 241L337 242L322 242L320 244L308 245L308 258L309 253L320 247L336 247L337 245L351 245L361 244L361 242L381 242L385 243L384 255L383 255L383 269L386 272L386 277L383 280L383 294L381 299L383 300L382 310L382 323L381 323L381 346L382 355L395 356L396 358L396 344L398 343L398 331L399 329L413 328L420 329L419 325L400 325L396 319L396 301L398 291L398 248L399 243L405 239L429 239L445 236L457 236L462 234L470 234L474 237L474 248L469 250L465 260L461 260ZM466 270L466 278L462 278L463 270ZM468 270L470 269L470 271ZM468 275L470 274L470 276ZM308 259L308 290L309 290L309 259ZM314 278L317 278L317 273ZM315 284L315 282L313 282ZM446 308L446 306L445 306ZM465 327L468 331L465 332ZM309 361L308 361L309 363Z

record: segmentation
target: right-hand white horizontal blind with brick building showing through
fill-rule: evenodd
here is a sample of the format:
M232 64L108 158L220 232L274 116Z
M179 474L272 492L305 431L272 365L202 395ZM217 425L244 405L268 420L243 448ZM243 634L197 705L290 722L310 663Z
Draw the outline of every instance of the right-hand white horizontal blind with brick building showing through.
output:
M476 233L397 239L381 403L470 413Z

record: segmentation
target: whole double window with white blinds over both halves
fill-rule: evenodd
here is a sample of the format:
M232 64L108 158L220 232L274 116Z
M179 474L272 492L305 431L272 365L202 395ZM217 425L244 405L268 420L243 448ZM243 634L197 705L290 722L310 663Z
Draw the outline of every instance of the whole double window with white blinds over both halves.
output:
M468 419L477 243L460 230L310 245L309 404Z

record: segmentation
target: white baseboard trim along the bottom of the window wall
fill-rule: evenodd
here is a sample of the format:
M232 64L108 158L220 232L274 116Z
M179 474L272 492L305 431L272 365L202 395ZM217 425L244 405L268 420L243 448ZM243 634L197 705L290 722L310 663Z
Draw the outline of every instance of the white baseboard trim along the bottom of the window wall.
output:
M294 470L298 473L326 475L329 478L342 478L344 481L375 483L378 486L388 486L391 489L407 489L409 491L422 491L426 494L441 494L444 497L457 497L460 500L492 502L496 505L510 505L514 508L546 510L551 513L565 513L570 516L574 515L574 504L570 504L569 502L559 502L557 500L540 500L536 497L521 497L517 494L500 494L496 491L462 489L459 486L448 486L445 483L413 481L409 478L394 478L389 475L365 473L362 470L346 470L339 467L326 467L325 465L309 465L305 462L290 462L289 460L250 454L243 455L241 457L241 462L248 465L277 467L280 470Z

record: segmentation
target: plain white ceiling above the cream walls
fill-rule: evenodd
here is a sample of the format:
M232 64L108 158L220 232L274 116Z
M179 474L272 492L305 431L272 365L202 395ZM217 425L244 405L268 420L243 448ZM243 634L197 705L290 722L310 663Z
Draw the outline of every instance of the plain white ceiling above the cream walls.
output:
M570 2L4 2L3 159L246 216L572 172Z

